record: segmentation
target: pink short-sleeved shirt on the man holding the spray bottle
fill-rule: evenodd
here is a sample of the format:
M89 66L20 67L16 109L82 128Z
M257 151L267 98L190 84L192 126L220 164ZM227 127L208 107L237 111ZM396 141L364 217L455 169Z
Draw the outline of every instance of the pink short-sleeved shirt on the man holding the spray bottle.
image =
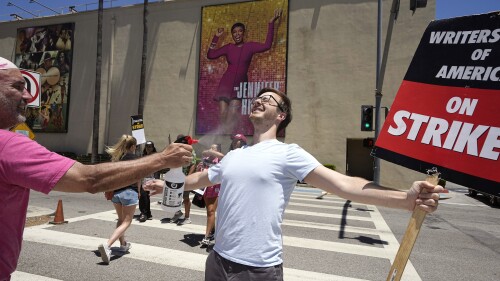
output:
M23 135L0 130L0 280L9 280L16 270L30 189L49 193L74 163Z

